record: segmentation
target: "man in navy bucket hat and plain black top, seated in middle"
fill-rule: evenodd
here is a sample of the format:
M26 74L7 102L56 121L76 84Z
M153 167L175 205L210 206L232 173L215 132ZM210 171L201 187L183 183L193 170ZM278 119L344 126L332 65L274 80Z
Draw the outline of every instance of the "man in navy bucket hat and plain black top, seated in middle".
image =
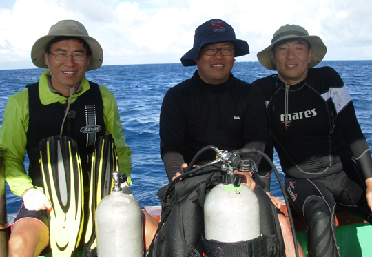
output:
M265 148L267 121L262 92L231 74L235 57L245 54L249 54L248 43L236 39L234 29L225 21L211 19L196 28L193 48L180 61L198 69L191 79L168 90L161 107L161 158L169 181L180 175L181 167L187 167L207 145L227 151ZM215 155L214 151L204 152L196 163L214 160ZM259 154L244 154L242 163L254 167L260 158ZM260 202L260 229L270 238L267 249L273 256L282 256L284 247L276 212L267 194L254 182L254 168L248 172L236 170L234 174L240 174L242 182L254 189ZM169 248L179 244L173 238L165 241L169 240L173 244L169 244L167 253L174 254Z

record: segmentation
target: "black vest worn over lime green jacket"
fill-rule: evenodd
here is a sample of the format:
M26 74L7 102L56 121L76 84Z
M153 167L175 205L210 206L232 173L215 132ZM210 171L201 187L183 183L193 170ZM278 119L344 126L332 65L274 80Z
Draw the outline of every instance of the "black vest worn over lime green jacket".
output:
M91 155L96 138L105 134L103 121L103 100L99 85L89 81L90 89L70 104L68 116L63 125L63 135L73 138L79 146L84 185L89 185ZM39 165L39 142L43 138L59 135L65 110L65 104L41 104L39 83L26 86L29 99L29 125L27 132L27 153L30 160L28 175L32 183L43 187Z

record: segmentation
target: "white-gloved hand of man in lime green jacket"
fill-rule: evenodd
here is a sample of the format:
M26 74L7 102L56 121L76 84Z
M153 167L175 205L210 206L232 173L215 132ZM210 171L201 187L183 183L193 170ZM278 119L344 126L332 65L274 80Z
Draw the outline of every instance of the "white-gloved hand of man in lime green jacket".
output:
M41 189L27 189L22 196L25 208L29 211L41 211L47 209L50 212L52 210L52 205Z

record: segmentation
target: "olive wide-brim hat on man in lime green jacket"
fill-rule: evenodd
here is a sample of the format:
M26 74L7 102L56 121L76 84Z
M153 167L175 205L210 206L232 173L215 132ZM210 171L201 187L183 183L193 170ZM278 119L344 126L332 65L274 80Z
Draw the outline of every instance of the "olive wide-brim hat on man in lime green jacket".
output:
M73 20L59 21L55 25L52 25L48 35L41 37L34 43L31 49L31 59L35 66L48 69L44 61L45 48L52 39L61 36L80 37L83 39L92 51L92 59L90 60L87 70L95 70L101 67L103 62L103 50L101 45L96 39L89 36L83 24Z

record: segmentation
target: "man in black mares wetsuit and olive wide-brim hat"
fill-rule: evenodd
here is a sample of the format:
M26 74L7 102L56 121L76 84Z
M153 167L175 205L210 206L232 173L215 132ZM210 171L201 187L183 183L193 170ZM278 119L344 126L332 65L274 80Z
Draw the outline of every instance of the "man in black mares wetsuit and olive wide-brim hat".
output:
M289 201L307 224L309 256L340 256L335 205L372 222L371 150L360 130L351 96L330 67L313 68L327 48L298 25L285 25L260 63L278 74L254 81L267 103L271 143L285 173ZM259 174L270 169L262 162Z

